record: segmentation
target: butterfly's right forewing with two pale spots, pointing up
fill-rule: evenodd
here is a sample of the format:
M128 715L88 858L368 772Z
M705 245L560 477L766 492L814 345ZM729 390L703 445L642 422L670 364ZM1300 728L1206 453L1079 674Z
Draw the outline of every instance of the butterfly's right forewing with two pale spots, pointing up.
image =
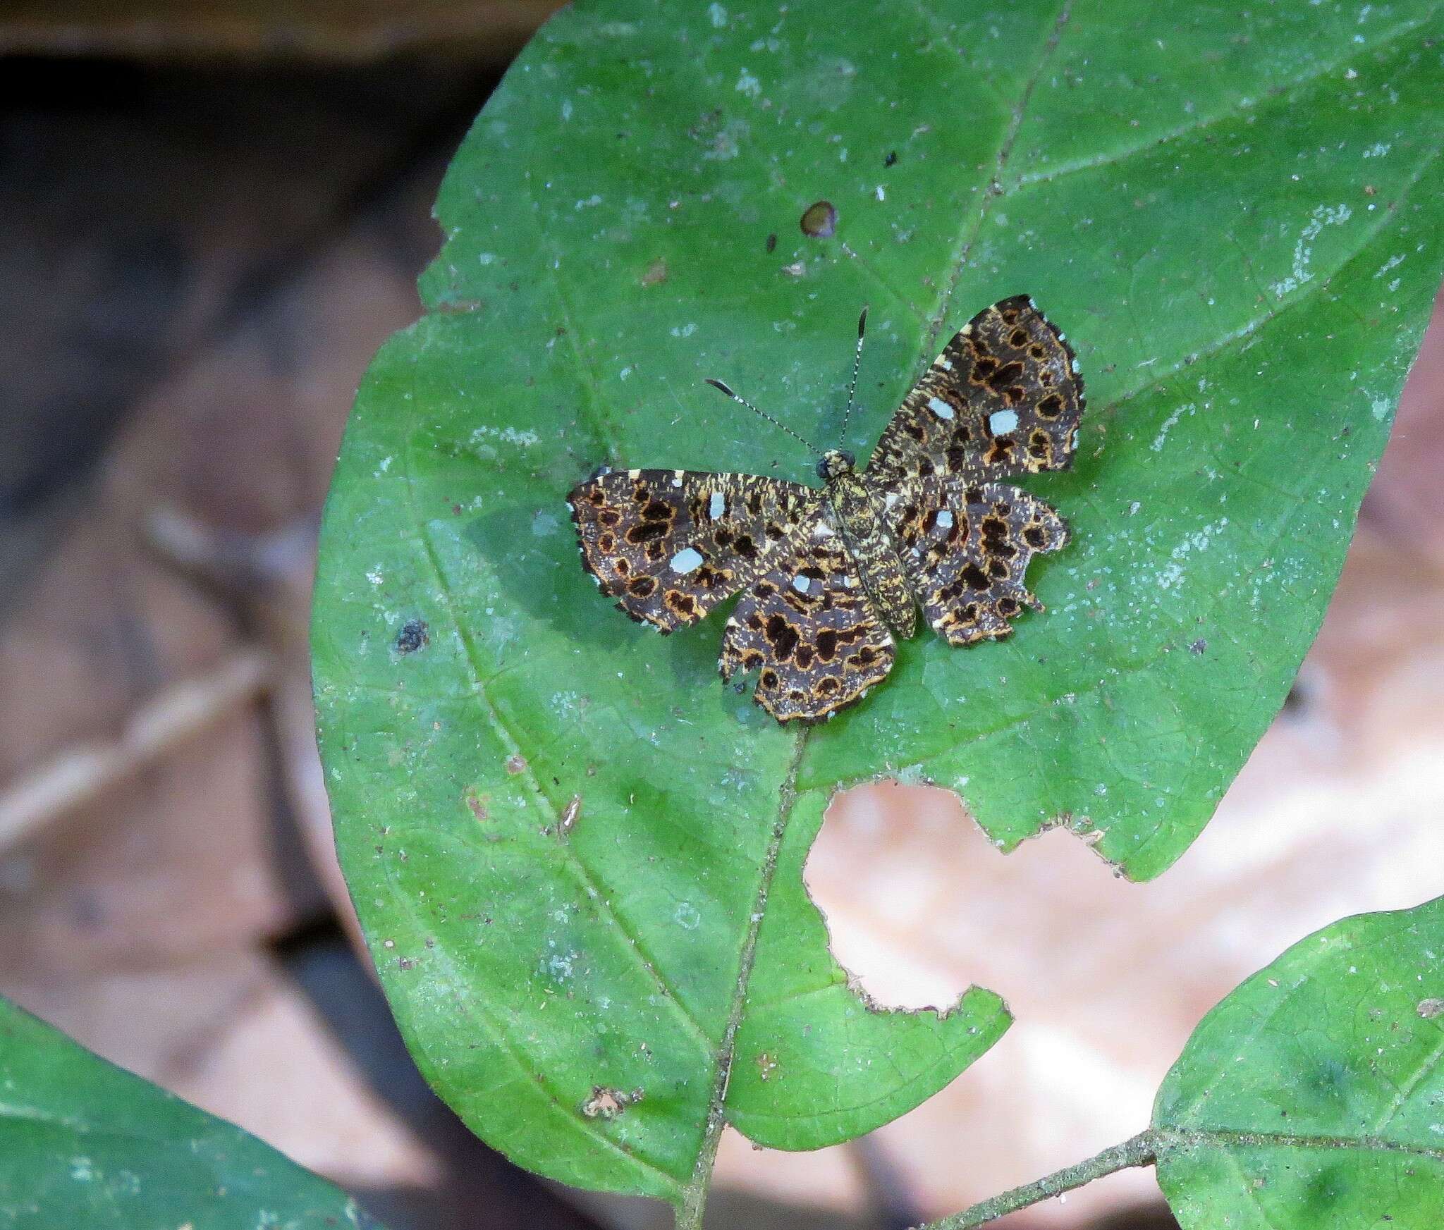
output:
M975 481L1067 469L1083 414L1073 348L1027 295L985 308L953 335L892 416L868 463Z

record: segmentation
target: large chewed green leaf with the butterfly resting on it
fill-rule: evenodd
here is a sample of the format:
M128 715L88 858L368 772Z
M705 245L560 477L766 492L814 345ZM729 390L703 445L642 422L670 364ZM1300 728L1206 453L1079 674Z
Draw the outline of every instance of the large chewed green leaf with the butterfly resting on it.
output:
M812 1148L1006 1022L849 987L801 885L839 782L959 790L1149 876L1197 834L1314 635L1438 286L1432 10L1095 0L582 3L523 53L438 204L426 315L377 357L328 505L315 671L342 863L422 1068L492 1145L699 1200L723 1122ZM894 157L895 156L895 157ZM807 238L832 201L836 237ZM775 240L774 240L775 237ZM582 575L599 462L866 453L947 331L1030 292L1089 384L1074 543L1009 642L902 647L814 730Z

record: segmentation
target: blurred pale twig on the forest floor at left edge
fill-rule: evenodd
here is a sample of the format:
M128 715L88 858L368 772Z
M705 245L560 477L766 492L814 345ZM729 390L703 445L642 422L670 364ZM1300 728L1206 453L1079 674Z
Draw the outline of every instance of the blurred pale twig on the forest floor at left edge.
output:
M126 719L108 743L81 743L22 774L0 795L0 850L103 795L173 746L248 705L270 684L271 655L245 650L178 683Z

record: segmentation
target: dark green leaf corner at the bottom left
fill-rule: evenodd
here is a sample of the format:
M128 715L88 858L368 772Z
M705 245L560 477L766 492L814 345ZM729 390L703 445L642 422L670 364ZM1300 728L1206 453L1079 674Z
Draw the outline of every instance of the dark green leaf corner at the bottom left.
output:
M0 1226L182 1224L380 1230L269 1145L0 999Z

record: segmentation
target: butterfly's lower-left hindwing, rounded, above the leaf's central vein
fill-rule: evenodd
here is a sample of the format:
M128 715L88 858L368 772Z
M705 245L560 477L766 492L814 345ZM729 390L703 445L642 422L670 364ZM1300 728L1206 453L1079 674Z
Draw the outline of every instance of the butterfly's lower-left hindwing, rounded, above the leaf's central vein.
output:
M892 668L892 637L823 514L768 563L726 622L722 677L757 670L752 699L778 722L830 718Z

